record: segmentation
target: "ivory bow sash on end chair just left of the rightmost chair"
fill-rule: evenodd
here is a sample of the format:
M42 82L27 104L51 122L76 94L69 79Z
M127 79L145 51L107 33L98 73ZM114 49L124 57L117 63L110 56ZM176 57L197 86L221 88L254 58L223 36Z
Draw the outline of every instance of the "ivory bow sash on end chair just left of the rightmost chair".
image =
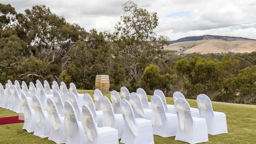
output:
M180 106L179 104L175 106L176 112L178 112L178 120L180 124L180 130L186 131L185 127L185 112L190 112L189 107Z

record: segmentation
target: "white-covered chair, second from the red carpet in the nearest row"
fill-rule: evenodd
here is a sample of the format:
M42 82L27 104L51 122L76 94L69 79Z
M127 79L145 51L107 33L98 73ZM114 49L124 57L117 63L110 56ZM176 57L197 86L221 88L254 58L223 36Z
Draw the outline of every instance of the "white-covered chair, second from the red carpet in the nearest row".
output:
M34 135L40 138L49 137L52 130L52 125L48 119L47 111L43 110L42 104L36 95L32 97L31 105L35 112L36 127Z

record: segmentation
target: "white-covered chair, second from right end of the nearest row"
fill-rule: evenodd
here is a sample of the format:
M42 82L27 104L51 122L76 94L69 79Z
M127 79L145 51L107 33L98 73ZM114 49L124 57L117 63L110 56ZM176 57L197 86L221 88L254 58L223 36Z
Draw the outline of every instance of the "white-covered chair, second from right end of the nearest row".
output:
M64 103L64 132L67 135L66 144L86 144L84 128L81 121L78 121L73 105L66 101Z

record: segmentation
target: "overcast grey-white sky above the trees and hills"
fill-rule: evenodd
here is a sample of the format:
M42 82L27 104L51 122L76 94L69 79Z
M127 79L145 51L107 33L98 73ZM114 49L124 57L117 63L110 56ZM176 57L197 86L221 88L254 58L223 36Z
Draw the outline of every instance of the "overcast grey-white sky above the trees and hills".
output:
M86 30L113 32L126 0L1 0L17 12L46 5L70 23ZM138 7L157 12L157 35L170 40L193 35L227 35L256 39L256 0L133 0Z

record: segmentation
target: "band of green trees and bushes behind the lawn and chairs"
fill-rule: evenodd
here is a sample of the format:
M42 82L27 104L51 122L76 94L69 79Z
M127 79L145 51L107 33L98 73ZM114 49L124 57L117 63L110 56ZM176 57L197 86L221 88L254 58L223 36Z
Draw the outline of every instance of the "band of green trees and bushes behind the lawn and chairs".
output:
M94 89L96 75L109 75L111 90L161 89L187 98L256 104L256 52L251 54L175 55L163 51L168 38L157 36L155 12L131 1L115 32L86 31L46 6L17 13L0 3L0 82L73 82Z

